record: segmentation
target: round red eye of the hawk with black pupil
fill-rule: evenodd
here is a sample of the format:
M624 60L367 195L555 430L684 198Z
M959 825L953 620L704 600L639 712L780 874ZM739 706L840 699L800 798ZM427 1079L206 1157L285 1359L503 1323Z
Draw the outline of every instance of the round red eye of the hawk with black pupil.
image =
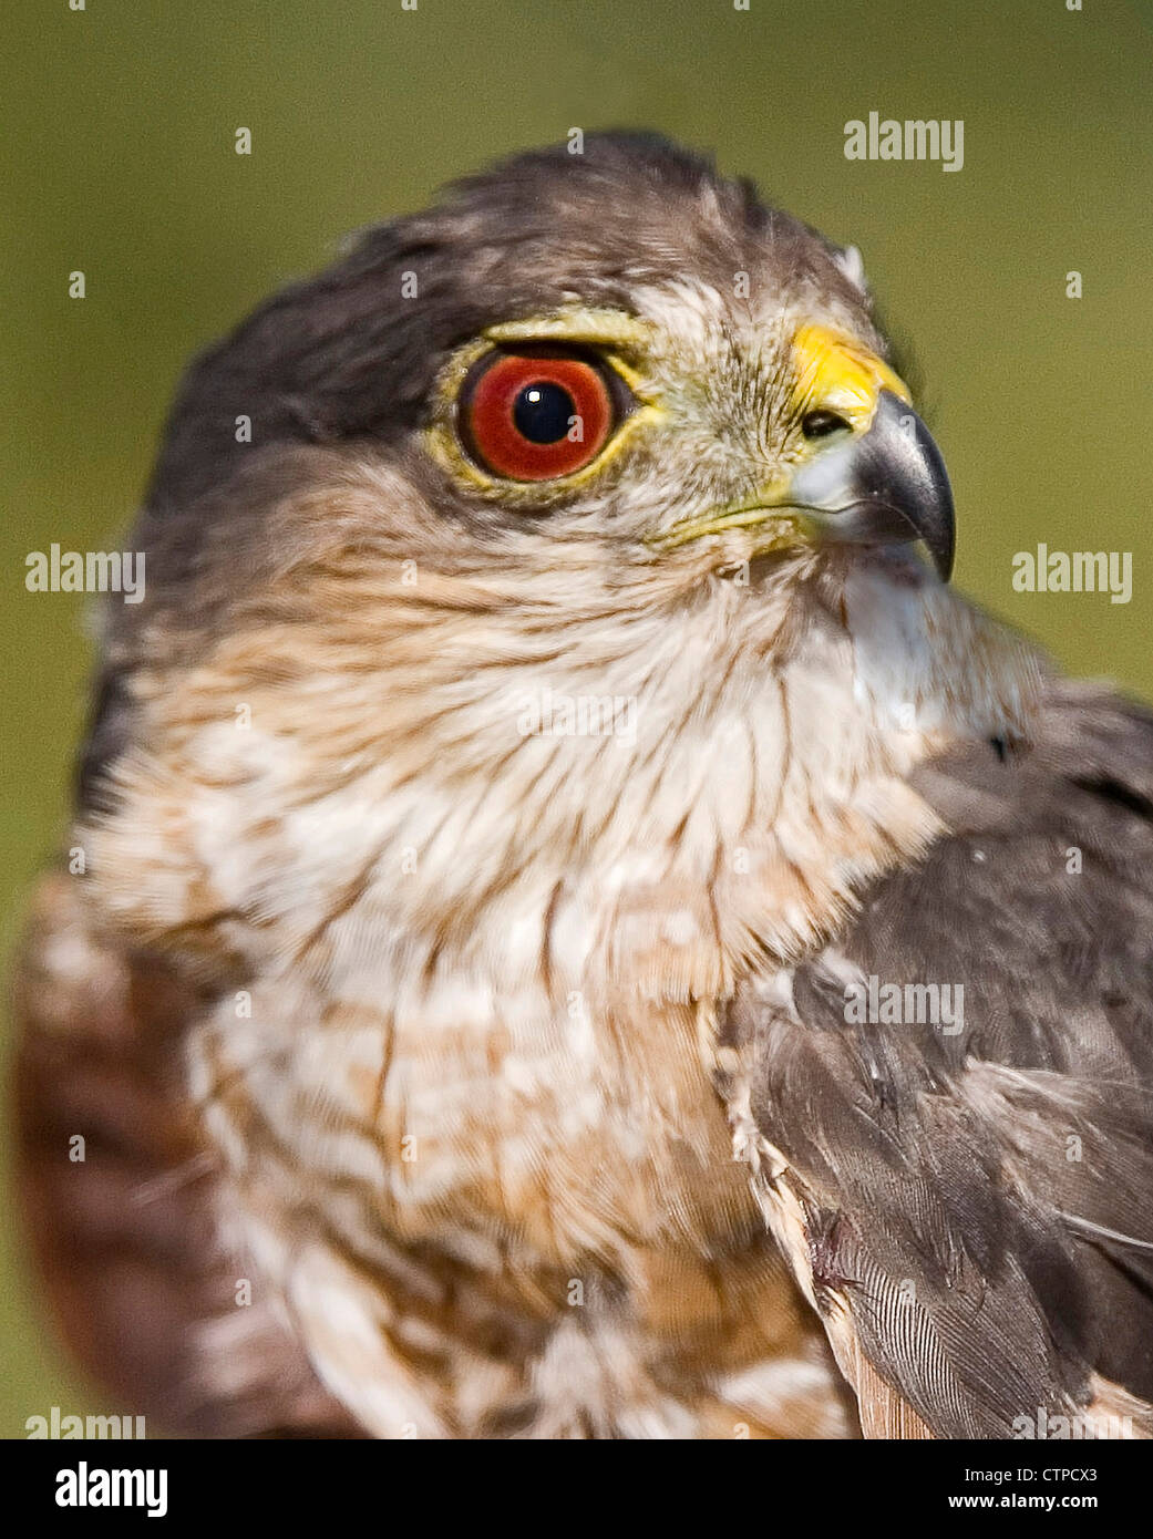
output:
M460 399L462 437L506 480L553 480L590 465L616 426L603 372L571 354L497 352Z

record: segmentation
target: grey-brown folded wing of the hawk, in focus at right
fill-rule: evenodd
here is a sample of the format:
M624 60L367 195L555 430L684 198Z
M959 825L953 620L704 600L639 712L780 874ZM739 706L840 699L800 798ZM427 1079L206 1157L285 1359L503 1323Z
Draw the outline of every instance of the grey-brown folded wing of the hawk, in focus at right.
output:
M970 746L917 788L951 834L731 1010L767 1213L867 1430L1011 1436L1041 1408L1124 1404L1141 1436L1153 717L1056 686L1031 746ZM961 985L964 1020L856 1023L847 983L868 977L954 1003Z

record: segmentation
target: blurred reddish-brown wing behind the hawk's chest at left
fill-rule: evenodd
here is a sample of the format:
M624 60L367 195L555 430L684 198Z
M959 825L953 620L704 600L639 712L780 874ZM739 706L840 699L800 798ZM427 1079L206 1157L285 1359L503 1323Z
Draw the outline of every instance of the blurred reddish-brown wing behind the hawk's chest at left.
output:
M89 931L75 877L42 880L15 980L17 1157L54 1313L117 1408L157 1430L356 1434L277 1322L237 1307L180 1090L194 1005L160 962Z

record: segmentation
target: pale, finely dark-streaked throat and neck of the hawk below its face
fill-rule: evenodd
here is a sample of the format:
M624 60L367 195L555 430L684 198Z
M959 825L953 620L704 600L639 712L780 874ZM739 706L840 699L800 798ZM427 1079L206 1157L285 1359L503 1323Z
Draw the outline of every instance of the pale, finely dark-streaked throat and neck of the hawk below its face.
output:
M288 680L239 685L220 653L159 693L165 746L86 831L106 914L229 965L239 945L254 970L368 957L393 994L436 968L542 974L560 999L724 993L924 850L941 828L910 771L1022 733L1039 680L910 560L506 622L437 594L373 669L325 625ZM142 863L149 839L165 859Z

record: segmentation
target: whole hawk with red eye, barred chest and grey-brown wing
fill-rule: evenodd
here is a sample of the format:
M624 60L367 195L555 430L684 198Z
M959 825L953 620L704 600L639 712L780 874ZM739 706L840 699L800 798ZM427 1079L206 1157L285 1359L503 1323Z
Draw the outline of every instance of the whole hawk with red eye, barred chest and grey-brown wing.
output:
M853 249L513 159L192 365L134 548L17 985L134 1410L1148 1431L1153 719L948 585Z

